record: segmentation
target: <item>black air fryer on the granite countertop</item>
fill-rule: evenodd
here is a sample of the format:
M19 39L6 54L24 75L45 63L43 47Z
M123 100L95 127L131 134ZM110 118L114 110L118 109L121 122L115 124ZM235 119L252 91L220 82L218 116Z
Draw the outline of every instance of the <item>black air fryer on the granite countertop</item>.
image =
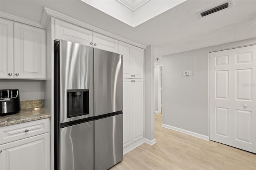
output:
M0 90L0 116L19 113L20 94L18 89Z

